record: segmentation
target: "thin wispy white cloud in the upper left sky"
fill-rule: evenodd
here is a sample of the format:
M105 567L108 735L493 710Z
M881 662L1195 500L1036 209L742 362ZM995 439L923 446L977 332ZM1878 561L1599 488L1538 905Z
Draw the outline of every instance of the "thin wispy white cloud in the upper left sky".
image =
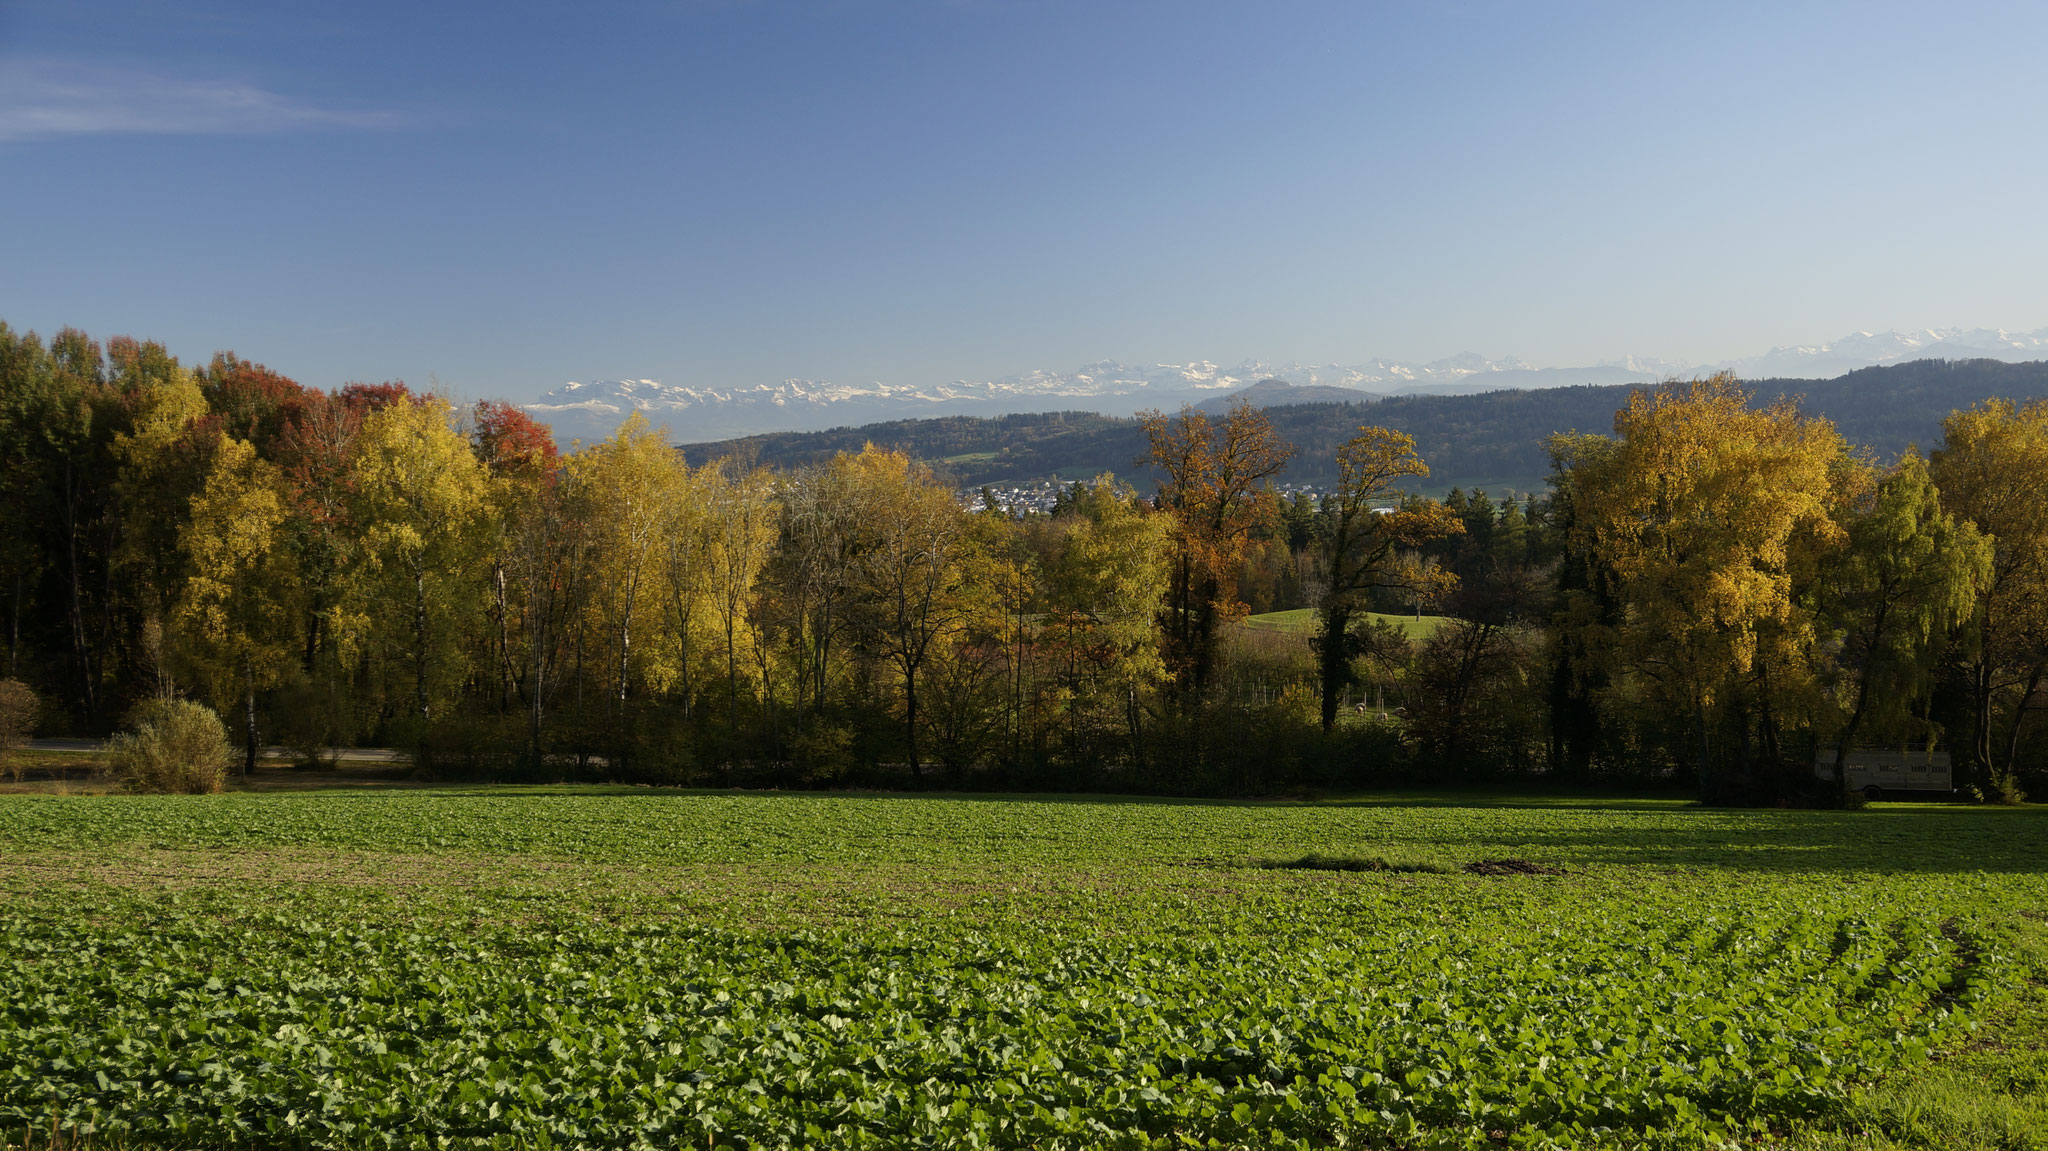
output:
M0 141L68 135L266 135L393 127L383 111L303 104L221 78L0 57Z

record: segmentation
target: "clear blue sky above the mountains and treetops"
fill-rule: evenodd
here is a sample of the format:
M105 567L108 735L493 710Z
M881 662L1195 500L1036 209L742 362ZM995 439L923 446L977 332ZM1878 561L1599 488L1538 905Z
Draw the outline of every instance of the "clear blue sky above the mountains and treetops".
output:
M299 377L2048 326L2048 4L0 0L0 317Z

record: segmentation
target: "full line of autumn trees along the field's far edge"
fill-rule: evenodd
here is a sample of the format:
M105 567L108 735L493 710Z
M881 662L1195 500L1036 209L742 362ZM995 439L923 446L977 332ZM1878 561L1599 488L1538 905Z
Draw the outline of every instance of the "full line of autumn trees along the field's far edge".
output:
M1376 426L1321 500L1274 492L1296 451L1249 406L1141 428L1153 492L1014 518L872 444L764 469L633 418L563 453L502 403L0 326L6 678L45 731L201 700L244 768L1729 803L1833 801L1812 764L1860 743L1942 743L1989 797L2040 770L2038 401L1880 465L1729 377L1636 389L1524 500L1409 496Z

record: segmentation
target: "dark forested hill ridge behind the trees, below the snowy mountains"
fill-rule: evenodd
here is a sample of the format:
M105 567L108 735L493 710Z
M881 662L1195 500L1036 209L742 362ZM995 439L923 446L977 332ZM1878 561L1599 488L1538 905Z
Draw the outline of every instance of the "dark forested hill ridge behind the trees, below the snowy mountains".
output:
M1329 479L1339 442L1360 424L1399 428L1415 436L1430 461L1430 487L1536 489L1550 465L1544 440L1552 432L1608 432L1614 410L1634 385L1546 387L1481 395L1397 395L1366 403L1292 403L1268 408L1274 428L1296 446L1288 479ZM1835 420L1841 434L1878 455L1907 444L1931 446L1942 438L1942 418L1993 395L2015 399L2048 395L2048 360L1913 360L1851 371L1835 379L1763 379L1751 389L1759 401L1792 395L1806 412ZM829 432L774 432L741 440L684 444L692 461L737 455L770 465L799 467L860 451L872 442L901 449L942 465L956 483L1081 479L1100 471L1135 477L1145 453L1137 420L1094 412L1034 416L944 416L895 420Z

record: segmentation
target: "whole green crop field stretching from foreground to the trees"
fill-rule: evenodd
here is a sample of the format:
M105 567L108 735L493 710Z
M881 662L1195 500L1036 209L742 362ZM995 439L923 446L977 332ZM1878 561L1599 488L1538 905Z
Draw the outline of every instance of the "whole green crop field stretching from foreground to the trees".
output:
M2040 809L16 795L0 1126L2036 1147L2044 860Z

